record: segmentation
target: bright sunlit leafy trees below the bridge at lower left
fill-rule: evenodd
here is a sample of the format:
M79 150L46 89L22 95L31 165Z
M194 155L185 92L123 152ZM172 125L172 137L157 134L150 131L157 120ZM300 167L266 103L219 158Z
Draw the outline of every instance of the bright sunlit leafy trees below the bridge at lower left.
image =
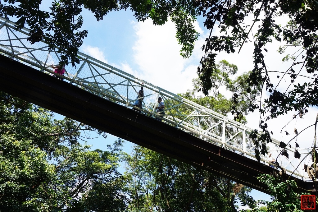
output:
M92 151L79 139L95 129L2 92L0 117L0 211L124 210L121 140Z

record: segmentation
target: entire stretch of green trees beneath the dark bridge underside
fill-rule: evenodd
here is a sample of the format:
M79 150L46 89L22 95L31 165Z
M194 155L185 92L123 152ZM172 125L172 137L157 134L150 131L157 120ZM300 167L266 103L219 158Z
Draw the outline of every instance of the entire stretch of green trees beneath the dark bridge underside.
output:
M254 204L251 188L140 146L124 154L120 139L91 150L80 132L103 132L2 92L0 114L0 211L235 212L237 203Z

